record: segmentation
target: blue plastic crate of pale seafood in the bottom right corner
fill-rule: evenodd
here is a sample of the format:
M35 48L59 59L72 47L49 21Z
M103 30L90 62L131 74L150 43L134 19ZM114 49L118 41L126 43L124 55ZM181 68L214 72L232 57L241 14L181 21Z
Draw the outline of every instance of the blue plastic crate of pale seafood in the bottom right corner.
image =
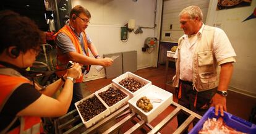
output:
M203 123L208 118L216 118L218 119L220 117L220 111L219 115L215 115L215 107L210 107L208 111L203 115L202 119L200 119L197 124L195 125L192 130L190 130L189 134L195 134L198 133L203 128ZM224 116L222 117L225 124L228 125L231 128L234 128L237 131L249 133L249 134L256 134L256 125L252 124L251 122L248 122L244 119L241 119L239 117L236 117L232 114L229 114L228 112L224 111Z

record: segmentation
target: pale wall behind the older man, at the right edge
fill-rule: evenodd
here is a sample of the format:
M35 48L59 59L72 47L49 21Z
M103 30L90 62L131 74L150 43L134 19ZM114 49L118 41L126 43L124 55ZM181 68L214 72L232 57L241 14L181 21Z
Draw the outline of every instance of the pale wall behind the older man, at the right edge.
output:
M230 89L256 96L256 19L242 22L254 12L256 1L251 6L226 10L216 10L217 2L210 1L207 25L220 23L236 51Z

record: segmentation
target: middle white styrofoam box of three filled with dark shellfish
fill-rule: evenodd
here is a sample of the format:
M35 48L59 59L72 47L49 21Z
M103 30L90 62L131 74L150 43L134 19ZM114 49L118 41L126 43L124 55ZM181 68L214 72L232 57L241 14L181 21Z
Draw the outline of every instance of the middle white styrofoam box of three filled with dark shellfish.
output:
M116 88L116 86L114 86L114 85L111 83L111 84L109 84L108 86L105 86L104 88L101 88L100 90L98 90L98 91L95 92L96 96L97 96L98 98L100 98L101 101L103 101L103 99L102 99L98 94L101 93L101 92L103 92L103 91L108 90L109 87ZM118 88L116 88L116 89L118 89ZM118 89L118 90L120 90L120 89ZM121 91L122 93L124 93L124 91L122 91L122 90L120 90L120 91ZM108 106L108 104L106 104L105 101L103 101L103 102L106 104L106 106L108 106L109 111L110 111L111 113L114 112L114 111L116 111L116 109L118 109L118 108L121 107L123 104L126 104L126 103L128 102L128 100L129 100L129 94L127 94L127 93L124 93L124 94L126 94L127 96L126 96L125 98L123 98L122 100L118 101L116 104L113 104L113 106Z

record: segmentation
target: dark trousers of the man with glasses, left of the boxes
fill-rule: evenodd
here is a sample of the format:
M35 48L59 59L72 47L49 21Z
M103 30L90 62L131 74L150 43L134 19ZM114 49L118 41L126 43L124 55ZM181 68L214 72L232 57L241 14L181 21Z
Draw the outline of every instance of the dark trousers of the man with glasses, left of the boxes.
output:
M83 99L83 94L82 94L80 83L74 83L73 97L72 97L71 104L69 106L69 111L67 111L67 112L70 112L70 111L74 110L75 109L75 103L77 101L80 101L81 99Z

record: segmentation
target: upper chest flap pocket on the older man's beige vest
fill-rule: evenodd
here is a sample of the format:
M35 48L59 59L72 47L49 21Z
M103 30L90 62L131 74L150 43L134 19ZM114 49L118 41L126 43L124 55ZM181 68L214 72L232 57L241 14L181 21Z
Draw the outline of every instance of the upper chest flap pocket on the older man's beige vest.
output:
M213 64L213 52L211 50L197 52L198 66L212 65Z

